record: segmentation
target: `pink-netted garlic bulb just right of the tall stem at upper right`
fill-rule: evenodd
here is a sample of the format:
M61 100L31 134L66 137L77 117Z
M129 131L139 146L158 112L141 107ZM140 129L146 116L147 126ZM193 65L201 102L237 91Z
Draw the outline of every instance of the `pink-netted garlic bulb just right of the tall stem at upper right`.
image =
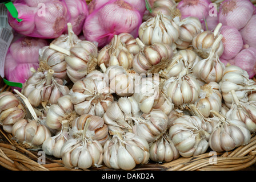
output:
M237 56L243 47L243 39L237 28L230 26L222 26L221 34L223 35L222 43L224 51L221 55L222 59L230 60Z

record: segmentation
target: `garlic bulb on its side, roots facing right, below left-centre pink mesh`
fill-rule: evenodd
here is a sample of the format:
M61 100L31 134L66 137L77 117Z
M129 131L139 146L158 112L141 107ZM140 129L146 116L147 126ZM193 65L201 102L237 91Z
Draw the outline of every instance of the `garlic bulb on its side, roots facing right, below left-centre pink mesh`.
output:
M67 76L73 82L83 80L97 66L98 46L94 42L83 40L70 48L70 55L65 57Z

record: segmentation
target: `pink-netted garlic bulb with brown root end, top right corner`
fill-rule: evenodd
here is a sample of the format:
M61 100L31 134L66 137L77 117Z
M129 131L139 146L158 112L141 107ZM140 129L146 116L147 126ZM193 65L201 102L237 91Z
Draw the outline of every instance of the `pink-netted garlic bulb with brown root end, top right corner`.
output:
M219 6L219 22L240 30L249 22L254 10L250 0L225 0Z

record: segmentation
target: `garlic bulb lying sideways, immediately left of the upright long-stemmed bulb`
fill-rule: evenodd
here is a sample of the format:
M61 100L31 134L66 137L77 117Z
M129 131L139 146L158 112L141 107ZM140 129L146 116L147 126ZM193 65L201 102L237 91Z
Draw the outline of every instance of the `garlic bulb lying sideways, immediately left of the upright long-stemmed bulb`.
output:
M179 50L175 53L168 67L160 71L159 74L161 77L168 79L170 77L177 77L185 68L192 72L194 65L200 60L202 58L190 49Z

